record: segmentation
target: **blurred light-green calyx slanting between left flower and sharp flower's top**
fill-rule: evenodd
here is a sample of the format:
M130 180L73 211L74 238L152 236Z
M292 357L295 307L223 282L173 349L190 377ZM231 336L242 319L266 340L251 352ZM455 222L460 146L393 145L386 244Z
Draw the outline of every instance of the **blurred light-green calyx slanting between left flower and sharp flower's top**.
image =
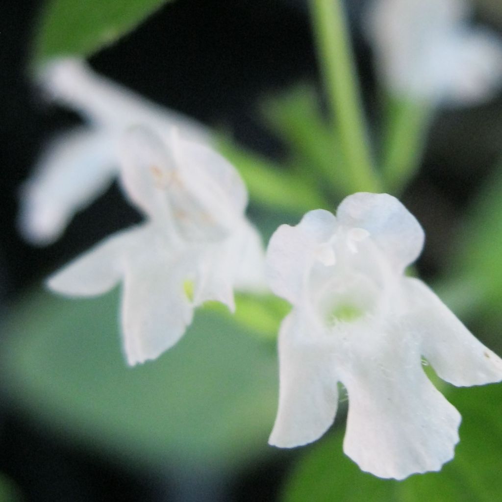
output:
M255 202L299 214L329 207L315 189L273 161L223 138L218 150L237 168Z

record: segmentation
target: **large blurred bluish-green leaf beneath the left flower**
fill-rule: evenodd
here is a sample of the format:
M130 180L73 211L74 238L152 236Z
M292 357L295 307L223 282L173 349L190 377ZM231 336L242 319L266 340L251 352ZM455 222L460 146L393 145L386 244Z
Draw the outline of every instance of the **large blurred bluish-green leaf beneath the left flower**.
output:
M59 434L135 465L171 459L223 469L269 451L275 347L203 311L176 346L130 368L117 297L37 293L20 305L4 331L2 382L10 398Z

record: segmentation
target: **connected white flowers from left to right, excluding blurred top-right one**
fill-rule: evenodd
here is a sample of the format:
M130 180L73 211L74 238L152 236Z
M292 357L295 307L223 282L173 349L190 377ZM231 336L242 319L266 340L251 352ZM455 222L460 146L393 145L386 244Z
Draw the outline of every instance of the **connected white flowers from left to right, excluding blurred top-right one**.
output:
M429 381L421 358L456 386L502 380L502 361L425 284L405 277L424 233L396 198L356 193L336 217L311 211L297 226L277 229L265 259L244 216L245 186L202 128L80 61L53 63L42 83L89 124L42 156L24 186L21 226L33 241L54 240L119 176L145 221L97 244L48 284L92 296L121 283L130 364L176 343L203 302L233 310L233 289L259 291L266 267L272 291L293 306L279 335L271 444L319 438L333 423L342 383L349 397L344 450L361 469L402 479L452 458L460 415Z

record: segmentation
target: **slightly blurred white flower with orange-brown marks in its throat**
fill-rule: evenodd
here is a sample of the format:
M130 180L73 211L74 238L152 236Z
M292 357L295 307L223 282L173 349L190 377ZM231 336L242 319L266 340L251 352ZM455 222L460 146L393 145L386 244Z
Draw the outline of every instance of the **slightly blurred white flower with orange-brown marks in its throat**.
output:
M93 296L122 282L124 352L136 364L175 344L194 307L216 300L233 310L234 287L262 289L265 260L244 216L244 184L220 155L175 130L163 141L135 128L121 157L122 185L146 222L108 237L48 284Z

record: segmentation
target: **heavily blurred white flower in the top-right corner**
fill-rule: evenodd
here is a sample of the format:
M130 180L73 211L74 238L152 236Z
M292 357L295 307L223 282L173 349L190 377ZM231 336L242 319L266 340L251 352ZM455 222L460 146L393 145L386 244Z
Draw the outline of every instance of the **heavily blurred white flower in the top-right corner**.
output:
M393 93L474 104L502 84L502 40L468 25L466 0L373 0L369 7L367 35Z

